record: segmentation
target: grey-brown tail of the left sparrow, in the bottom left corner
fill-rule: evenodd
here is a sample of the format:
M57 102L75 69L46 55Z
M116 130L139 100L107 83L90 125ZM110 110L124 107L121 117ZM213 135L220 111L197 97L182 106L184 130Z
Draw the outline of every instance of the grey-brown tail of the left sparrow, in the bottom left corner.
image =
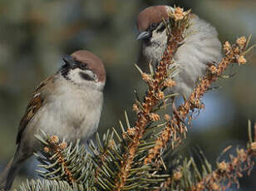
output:
M12 187L13 179L17 174L20 165L17 165L13 158L8 162L0 174L0 190L9 190Z

